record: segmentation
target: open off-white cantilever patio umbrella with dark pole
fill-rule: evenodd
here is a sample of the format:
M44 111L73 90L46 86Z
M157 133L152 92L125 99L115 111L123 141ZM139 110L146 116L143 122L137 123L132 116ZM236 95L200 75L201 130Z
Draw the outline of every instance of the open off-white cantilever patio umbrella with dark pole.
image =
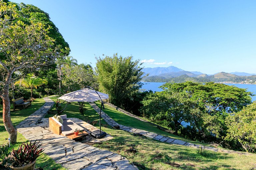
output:
M94 101L100 100L101 101L100 120L101 120L101 109L102 108L105 109L102 99L108 99L108 94L98 92L94 90L92 87L87 86L87 88L64 94L58 99L65 100L67 102L94 102ZM101 133L101 123L100 123L100 133Z

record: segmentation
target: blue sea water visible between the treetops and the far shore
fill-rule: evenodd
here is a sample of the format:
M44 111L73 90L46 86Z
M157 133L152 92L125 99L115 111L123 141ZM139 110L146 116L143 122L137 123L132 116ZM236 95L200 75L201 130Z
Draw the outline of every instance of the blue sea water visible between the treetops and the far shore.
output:
M162 89L159 88L159 86L163 85L164 83L160 82L142 82L144 85L141 89L144 90L152 90L153 92L160 92ZM228 84L229 86L236 86L238 88L247 89L248 92L251 92L252 94L256 95L256 84ZM256 101L256 96L252 96L252 101Z

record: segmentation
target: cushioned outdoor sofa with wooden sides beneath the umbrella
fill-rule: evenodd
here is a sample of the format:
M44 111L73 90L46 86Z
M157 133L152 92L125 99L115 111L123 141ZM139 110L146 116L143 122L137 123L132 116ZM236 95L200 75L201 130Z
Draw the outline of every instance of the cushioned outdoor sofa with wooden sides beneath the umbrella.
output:
M63 124L54 117L49 118L49 127L53 133L68 136L73 134L76 128L84 131L82 127L67 119L67 115L60 115L60 117L63 119Z

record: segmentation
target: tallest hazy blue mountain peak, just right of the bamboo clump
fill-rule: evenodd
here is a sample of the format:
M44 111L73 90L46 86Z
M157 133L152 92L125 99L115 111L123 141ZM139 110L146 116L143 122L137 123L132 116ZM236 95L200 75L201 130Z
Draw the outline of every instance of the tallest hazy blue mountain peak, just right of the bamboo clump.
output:
M141 71L145 73L144 75L149 74L149 76L157 76L164 73L179 72L184 70L178 67L169 66L169 67L155 67L155 68L148 67L148 68L143 68Z

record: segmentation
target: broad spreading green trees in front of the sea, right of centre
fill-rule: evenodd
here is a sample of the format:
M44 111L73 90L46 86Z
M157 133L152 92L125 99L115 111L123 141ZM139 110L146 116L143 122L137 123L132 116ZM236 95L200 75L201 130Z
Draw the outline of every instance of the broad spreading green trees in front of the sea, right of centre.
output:
M144 116L169 128L173 122L175 133L185 121L191 127L182 127L181 135L204 142L223 141L228 129L226 118L251 103L246 89L224 84L166 83L161 88L162 92L143 99Z

